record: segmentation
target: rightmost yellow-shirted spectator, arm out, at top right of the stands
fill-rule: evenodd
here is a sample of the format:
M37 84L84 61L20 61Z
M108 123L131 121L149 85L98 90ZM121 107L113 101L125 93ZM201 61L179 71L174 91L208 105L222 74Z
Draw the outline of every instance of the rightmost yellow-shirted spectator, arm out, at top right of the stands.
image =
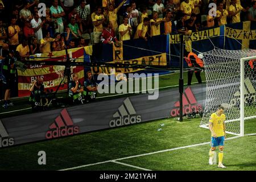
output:
M244 9L241 5L237 4L237 0L232 0L231 5L229 6L229 15L232 17L232 23L240 22L240 12L246 12L248 10Z

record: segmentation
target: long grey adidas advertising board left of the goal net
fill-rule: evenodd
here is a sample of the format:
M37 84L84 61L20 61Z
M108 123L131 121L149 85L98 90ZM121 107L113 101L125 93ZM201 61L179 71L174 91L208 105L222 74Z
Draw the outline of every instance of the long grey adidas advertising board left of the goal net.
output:
M204 107L205 85L185 88L184 109ZM91 102L63 109L3 118L0 122L0 146L54 139L91 131L129 126L135 123L179 114L179 89L159 92L157 100L148 100L148 94ZM11 137L10 137L11 136Z

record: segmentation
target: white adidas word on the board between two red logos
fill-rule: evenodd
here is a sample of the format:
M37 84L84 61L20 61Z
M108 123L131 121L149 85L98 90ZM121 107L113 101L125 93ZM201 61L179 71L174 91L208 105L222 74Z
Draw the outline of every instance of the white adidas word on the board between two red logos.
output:
M109 126L110 127L124 126L124 125L139 123L139 122L141 122L141 115L134 115L134 116L127 115L127 117L119 117L118 119L112 119L109 122Z

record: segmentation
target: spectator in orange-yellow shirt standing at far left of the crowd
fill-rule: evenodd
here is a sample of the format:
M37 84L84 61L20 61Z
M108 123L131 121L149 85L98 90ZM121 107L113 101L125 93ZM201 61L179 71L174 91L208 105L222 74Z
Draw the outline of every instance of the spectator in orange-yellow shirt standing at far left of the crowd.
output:
M8 27L9 35L9 49L16 50L16 47L19 45L19 35L22 33L18 25L16 25L16 18L11 18L11 25Z

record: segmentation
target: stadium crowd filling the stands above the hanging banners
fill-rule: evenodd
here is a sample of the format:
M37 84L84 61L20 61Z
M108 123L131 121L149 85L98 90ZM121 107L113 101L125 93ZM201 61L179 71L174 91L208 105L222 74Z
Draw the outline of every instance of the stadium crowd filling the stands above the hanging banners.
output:
M39 3L46 5L45 14ZM216 16L210 3L217 5ZM160 34L255 22L256 0L0 0L0 17L0 78L8 90L8 83L17 80L16 55L138 38L147 41ZM5 92L5 101L8 98L10 93Z

